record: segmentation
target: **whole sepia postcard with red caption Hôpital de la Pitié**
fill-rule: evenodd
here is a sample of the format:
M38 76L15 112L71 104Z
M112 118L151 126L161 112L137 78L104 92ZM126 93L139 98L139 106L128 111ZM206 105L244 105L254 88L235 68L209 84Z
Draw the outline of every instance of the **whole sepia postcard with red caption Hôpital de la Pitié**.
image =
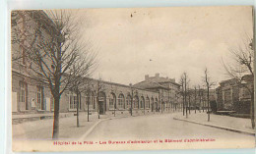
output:
M13 151L255 147L251 6L13 10Z

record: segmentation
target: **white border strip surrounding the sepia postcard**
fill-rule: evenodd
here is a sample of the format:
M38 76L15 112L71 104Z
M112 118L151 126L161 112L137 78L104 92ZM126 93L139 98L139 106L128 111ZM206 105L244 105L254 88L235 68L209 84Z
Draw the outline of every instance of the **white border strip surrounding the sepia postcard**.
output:
M76 8L136 8L171 6L220 6L220 5L256 5L256 0L2 0L0 2L0 153L12 152L11 120L11 62L10 57L10 11L18 9L76 9ZM4 51L4 52L2 52ZM3 103L5 102L5 103ZM5 124L5 125L2 125ZM250 154L255 149L225 150L160 150L129 151L129 153L232 153ZM75 152L74 152L75 153ZM76 152L78 153L78 152ZM83 152L84 153L84 152ZM96 153L96 152L86 152ZM115 152L102 152L115 153ZM127 151L118 153L128 153Z

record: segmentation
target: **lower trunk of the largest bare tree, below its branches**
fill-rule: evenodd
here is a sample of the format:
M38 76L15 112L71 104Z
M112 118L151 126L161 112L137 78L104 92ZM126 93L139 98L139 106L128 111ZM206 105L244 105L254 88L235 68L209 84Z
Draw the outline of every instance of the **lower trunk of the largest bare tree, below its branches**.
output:
M58 139L59 137L59 101L60 97L54 96L54 120L52 138Z

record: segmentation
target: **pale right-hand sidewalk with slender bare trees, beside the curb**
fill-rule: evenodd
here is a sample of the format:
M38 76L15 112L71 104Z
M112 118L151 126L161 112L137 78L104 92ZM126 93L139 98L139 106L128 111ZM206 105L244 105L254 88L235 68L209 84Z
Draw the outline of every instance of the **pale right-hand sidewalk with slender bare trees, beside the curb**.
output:
M175 116L173 119L211 128L222 128L225 130L255 135L255 130L251 128L250 119L211 114L210 122L208 122L208 115L206 112L199 113L197 111L195 114L194 110L191 111L191 114L188 114L188 118L183 116L181 113L179 116Z

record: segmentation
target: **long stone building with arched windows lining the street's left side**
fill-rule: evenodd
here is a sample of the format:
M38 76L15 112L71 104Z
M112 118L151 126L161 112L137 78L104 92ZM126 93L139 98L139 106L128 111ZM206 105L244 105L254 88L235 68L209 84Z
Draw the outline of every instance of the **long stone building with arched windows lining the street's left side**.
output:
M25 54L26 29L40 26L47 35L45 27L52 27L51 20L43 11L13 12L17 20L12 24L21 40L12 42L12 112L14 114L50 113L54 110L54 99L46 82L30 76L31 63ZM19 18L18 18L19 17ZM14 17L12 17L14 18ZM28 25L29 23L29 25ZM50 25L50 26L43 26ZM30 29L29 28L29 29ZM46 37L47 38L47 37ZM13 39L16 40L16 39ZM89 90L79 95L66 90L60 99L60 112L75 112L79 104L82 112L112 114L113 112L149 113L164 112L180 107L177 101L179 84L174 79L146 76L145 80L134 85L125 85L94 78L89 80Z

